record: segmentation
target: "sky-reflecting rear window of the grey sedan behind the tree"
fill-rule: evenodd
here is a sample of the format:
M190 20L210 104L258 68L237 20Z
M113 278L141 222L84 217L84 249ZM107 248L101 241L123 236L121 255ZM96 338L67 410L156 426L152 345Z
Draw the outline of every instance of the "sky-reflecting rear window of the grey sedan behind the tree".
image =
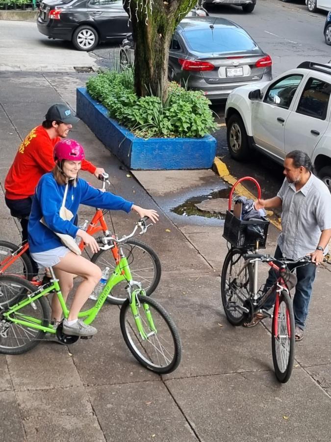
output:
M252 38L238 28L191 29L183 32L189 48L192 51L208 52L242 52L260 53Z

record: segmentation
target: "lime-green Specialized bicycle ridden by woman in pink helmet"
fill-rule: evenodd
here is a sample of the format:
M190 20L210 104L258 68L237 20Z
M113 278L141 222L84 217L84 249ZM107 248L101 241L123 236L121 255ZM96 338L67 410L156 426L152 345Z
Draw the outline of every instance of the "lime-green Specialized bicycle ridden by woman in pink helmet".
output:
M146 219L141 219L128 236L121 239L107 236L98 238L98 242L102 244L101 249L105 250L114 247L115 242L119 248L120 260L94 306L81 311L78 316L85 318L86 324L91 324L112 288L126 281L127 299L120 310L120 326L127 347L144 367L166 374L174 371L180 362L181 343L176 325L159 303L145 295L140 282L132 279L121 245L139 227L140 234L143 234L150 225L152 224L146 224ZM51 281L38 288L19 276L0 276L0 298L2 301L7 300L0 304L0 353L25 353L47 339L46 333L56 334L57 339L64 344L73 344L79 338L64 334L62 323L56 329L50 324L50 308L46 300L49 293L56 293L65 318L69 313L58 279L53 270L50 271Z

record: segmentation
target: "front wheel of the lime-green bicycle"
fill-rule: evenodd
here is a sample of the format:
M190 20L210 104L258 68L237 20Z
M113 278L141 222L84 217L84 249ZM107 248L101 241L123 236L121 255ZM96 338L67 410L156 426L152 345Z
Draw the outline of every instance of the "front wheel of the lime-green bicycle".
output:
M132 355L146 368L159 374L171 373L180 362L181 343L175 323L166 310L155 300L138 295L138 315L148 336L140 336L128 299L120 312L120 325L124 340ZM152 314L155 330L147 318L145 307Z

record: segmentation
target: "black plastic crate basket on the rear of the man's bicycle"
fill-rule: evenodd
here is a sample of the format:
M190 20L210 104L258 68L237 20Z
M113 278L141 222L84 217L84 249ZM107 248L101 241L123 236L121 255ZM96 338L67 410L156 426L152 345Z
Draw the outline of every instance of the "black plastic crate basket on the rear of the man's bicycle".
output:
M248 229L248 226L256 227L256 229L263 234L264 238L258 238L254 234L254 229ZM224 221L223 237L229 241L232 246L245 249L254 249L256 239L258 239L259 249L265 249L268 227L269 221L264 217L261 220L242 221L233 215L232 210L227 210Z

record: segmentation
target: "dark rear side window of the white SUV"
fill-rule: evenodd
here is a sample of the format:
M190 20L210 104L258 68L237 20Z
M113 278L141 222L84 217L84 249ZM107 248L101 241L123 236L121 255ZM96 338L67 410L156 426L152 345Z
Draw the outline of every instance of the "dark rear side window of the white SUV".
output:
M300 98L297 112L325 120L331 93L331 84L309 78Z

